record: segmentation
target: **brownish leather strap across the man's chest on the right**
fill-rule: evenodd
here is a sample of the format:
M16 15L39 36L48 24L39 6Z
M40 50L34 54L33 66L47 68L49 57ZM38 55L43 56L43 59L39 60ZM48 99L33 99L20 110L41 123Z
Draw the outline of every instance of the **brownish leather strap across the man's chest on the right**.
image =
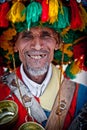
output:
M68 113L73 94L75 91L75 83L64 79L60 88L60 116L58 115L58 94L54 102L51 114L46 124L46 130L62 130L65 117Z

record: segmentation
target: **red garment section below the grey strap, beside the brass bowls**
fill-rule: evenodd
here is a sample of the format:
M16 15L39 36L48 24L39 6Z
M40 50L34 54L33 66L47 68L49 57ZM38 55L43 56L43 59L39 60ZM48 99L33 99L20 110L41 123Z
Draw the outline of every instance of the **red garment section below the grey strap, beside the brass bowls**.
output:
M5 99L9 94L10 94L10 89L6 85L0 84L0 101L3 100L3 99ZM21 102L18 100L18 98L14 94L12 96L14 97L14 101L18 105L18 120L17 120L17 123L13 127L12 130L17 130L18 127L25 122L25 117L27 115L27 111L23 107L23 105L21 104ZM9 100L13 100L13 99L9 98ZM31 120L30 117L29 117L29 120Z

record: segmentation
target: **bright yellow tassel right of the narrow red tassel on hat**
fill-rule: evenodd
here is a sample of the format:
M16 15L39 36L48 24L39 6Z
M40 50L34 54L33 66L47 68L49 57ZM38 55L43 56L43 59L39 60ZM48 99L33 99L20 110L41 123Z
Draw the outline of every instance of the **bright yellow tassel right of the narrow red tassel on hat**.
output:
M57 0L49 0L49 22L54 23L58 18L58 1Z

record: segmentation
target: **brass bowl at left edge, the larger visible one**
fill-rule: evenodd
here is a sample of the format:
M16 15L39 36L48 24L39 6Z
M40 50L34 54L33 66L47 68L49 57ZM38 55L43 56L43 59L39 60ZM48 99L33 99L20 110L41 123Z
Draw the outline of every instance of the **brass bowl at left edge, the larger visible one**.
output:
M0 129L11 129L18 118L18 106L14 101L0 101Z

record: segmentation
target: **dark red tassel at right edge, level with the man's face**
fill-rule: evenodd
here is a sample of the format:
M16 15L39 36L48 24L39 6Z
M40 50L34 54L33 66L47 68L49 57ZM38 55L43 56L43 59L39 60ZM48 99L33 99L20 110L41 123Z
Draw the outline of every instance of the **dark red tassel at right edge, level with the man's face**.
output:
M82 37L77 39L74 46L73 46L73 57L74 59L78 59L80 62L79 68L82 70L87 71L87 66L85 65L86 62L86 54L87 54L87 37Z

